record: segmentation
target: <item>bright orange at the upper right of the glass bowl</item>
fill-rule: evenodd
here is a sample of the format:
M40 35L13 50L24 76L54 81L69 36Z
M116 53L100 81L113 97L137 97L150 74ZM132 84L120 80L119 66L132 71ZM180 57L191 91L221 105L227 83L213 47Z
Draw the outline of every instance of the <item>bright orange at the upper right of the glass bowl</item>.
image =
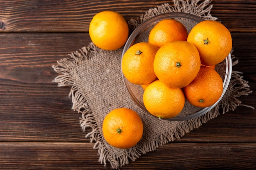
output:
M196 46L203 65L216 65L223 61L232 48L229 30L220 22L205 20L196 24L187 41Z

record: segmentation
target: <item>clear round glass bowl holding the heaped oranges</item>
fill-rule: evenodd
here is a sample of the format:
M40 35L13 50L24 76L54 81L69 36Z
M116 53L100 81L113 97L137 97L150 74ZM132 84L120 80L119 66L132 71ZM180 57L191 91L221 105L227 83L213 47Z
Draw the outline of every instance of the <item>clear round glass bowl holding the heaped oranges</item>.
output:
M186 27L187 31L190 32L193 26L197 24L198 22L203 21L202 18L191 15L188 13L181 13L181 12L172 12L172 13L164 13L164 14L159 14L154 17L151 17L150 19L146 20L145 22L141 23L130 35L128 38L122 58L124 56L124 53L132 46L133 44L136 44L138 42L148 42L148 35L150 33L150 30L157 24L159 21L164 20L164 19L175 19ZM183 120L189 120L193 118L197 118L199 116L204 115L205 113L209 112L213 107L215 107L218 102L220 102L221 98L224 96L228 85L229 81L231 78L231 72L232 72L232 60L231 60L231 54L226 57L224 61L216 65L215 70L220 74L222 80L223 80L223 93L220 97L220 99L212 106L206 107L206 108L200 108L200 107L194 107L191 105L187 100L185 101L185 106L183 110L174 118L169 118L165 120L171 120L171 121L183 121ZM130 83L124 76L123 76L123 81L124 85L126 87L126 90L132 100L144 111L149 113L147 109L144 106L143 103L143 92L144 90L142 89L141 85L135 85L133 83ZM149 113L150 114L150 113Z

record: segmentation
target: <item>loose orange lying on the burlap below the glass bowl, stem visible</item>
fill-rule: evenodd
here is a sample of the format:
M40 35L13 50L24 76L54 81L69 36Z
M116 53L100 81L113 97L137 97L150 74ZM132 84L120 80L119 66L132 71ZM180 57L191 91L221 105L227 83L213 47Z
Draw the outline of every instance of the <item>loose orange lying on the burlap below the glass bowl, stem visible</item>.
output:
M141 139L143 123L135 111L118 108L110 111L104 118L102 131L108 144L126 149L135 146Z

